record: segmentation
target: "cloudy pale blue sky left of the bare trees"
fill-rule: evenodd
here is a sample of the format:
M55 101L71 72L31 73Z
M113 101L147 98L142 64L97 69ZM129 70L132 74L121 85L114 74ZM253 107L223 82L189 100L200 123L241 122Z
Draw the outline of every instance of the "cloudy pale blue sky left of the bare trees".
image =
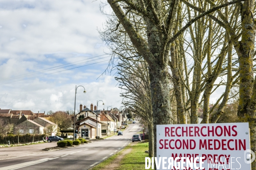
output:
M0 1L1 109L73 109L76 85L87 91L78 89L76 108L80 103L96 105L96 100L105 102L99 108L121 106L113 75L101 76L109 58L100 55L109 51L97 31L106 20L100 5L90 0ZM76 65L59 68L71 62ZM87 66L63 71L83 65ZM56 71L61 72L50 74Z

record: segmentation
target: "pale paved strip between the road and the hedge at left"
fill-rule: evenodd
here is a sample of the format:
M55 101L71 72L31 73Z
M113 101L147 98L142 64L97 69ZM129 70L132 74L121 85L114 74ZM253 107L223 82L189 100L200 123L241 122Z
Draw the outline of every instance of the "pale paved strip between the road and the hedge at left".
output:
M32 144L18 147L3 147L0 148L0 160L47 152L42 149L55 146L57 146L57 142Z

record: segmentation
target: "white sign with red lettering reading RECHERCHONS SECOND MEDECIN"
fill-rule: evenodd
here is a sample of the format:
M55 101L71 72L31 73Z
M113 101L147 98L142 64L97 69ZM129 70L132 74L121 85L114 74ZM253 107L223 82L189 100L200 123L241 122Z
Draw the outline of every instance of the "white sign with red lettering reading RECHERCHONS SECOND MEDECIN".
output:
M203 157L205 170L250 170L250 163L246 160L248 150L248 123L157 125L157 159L166 157L167 169L170 157ZM178 161L181 163L181 159ZM199 159L196 163L199 167ZM161 164L162 169L165 168Z

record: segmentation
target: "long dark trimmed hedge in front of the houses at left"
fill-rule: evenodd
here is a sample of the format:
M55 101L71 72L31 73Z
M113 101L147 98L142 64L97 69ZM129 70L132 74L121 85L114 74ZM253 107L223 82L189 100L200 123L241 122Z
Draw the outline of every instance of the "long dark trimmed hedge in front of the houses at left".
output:
M41 141L45 139L45 135L34 135L34 142L35 141ZM7 142L10 141L11 144L17 144L18 143L18 136L9 134L6 136L1 136L0 135L0 144L7 144ZM28 142L33 142L33 135L31 134L26 134L26 135L19 135L19 142L20 143L28 143Z

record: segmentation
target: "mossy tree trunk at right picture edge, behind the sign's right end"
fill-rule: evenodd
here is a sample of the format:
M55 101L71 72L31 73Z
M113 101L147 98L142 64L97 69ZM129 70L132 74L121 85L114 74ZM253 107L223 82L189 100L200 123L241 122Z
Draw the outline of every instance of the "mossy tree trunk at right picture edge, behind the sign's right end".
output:
M251 150L256 152L256 82L253 77L253 50L255 42L254 0L245 1L241 11L241 42L236 47L239 58L239 107L242 122L249 122ZM254 85L253 85L254 81ZM254 87L253 87L254 86ZM251 164L256 170L256 162Z

